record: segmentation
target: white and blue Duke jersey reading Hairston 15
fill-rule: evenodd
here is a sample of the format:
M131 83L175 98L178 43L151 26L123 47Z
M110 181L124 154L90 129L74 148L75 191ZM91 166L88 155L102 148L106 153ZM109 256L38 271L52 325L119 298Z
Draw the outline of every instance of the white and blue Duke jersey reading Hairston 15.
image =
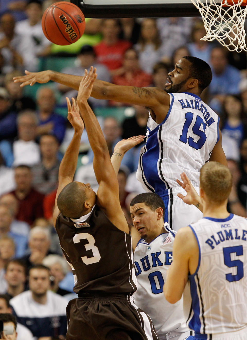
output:
M146 145L140 151L137 179L149 192L180 187L176 179L182 172L199 187L200 168L219 140L219 117L200 97L188 92L169 95L163 122L157 124L149 115Z

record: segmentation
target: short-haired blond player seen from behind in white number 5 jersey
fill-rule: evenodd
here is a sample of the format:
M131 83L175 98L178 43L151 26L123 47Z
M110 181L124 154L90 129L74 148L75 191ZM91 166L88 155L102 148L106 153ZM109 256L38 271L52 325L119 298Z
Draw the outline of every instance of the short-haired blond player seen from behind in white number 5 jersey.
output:
M183 186L183 200L197 201L185 177ZM164 295L176 303L184 292L184 313L196 340L247 339L247 219L227 211L231 187L225 166L205 164L199 198L204 217L181 228L173 245Z

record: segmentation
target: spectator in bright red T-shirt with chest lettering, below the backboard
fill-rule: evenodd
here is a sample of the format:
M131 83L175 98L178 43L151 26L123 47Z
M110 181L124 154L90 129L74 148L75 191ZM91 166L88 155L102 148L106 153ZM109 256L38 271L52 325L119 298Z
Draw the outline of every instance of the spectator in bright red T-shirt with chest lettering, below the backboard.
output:
M101 23L103 39L94 46L97 62L105 65L111 75L116 74L123 63L124 52L131 47L130 41L119 39L121 22L119 19L103 19Z

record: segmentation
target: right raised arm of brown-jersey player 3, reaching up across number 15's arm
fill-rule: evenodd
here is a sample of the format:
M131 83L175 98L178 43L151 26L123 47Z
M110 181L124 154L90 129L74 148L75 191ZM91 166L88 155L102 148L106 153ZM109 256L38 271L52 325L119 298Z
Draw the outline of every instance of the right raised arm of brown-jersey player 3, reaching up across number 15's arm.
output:
M96 180L99 183L97 204L104 209L109 220L117 228L128 233L128 224L119 202L117 175L115 174L111 164L106 140L99 122L87 102L95 79L95 68L91 67L89 73L85 70L84 77L78 90L77 103L80 108L81 116L87 129L88 140L94 154L93 169Z

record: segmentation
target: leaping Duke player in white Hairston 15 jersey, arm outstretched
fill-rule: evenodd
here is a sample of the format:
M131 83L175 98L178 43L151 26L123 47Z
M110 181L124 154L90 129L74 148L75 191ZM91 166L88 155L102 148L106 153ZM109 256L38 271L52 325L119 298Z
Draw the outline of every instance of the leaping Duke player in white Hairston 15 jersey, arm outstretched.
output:
M52 80L78 89L82 79L51 70L25 73L13 78L20 86ZM137 178L147 191L163 199L165 221L175 230L201 217L194 206L186 207L178 200L176 194L184 193L176 183L178 175L186 171L193 185L199 187L199 170L205 162L215 160L227 164L218 117L199 97L211 80L211 68L206 62L186 56L169 73L164 90L119 86L97 79L93 84L91 96L94 98L149 108L147 141L140 154Z

